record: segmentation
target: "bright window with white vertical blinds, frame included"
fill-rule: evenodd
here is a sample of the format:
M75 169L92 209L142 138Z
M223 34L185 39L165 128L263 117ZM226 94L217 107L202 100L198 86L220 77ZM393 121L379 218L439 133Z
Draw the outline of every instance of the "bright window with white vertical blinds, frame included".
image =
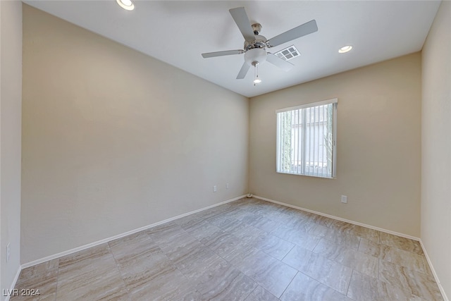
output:
M277 110L277 172L335 178L338 99Z

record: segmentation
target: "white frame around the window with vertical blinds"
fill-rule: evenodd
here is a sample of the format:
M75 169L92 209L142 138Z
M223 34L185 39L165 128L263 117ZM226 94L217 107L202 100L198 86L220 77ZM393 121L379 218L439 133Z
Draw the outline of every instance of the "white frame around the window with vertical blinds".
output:
M279 113L284 113L284 112L288 112L288 111L295 111L295 110L299 110L299 109L309 109L309 108L314 108L316 106L323 106L323 105L328 105L328 104L333 104L333 113L332 113L332 139L333 139L333 143L332 143L332 166L331 166L331 172L330 172L330 176L326 175L323 176L322 174L312 174L312 173L306 173L305 169L306 169L306 163L303 162L303 168L302 170L304 170L304 172L299 172L299 170L297 171L292 171L290 168L290 171L282 171L280 168L280 161L281 161L281 155L280 155L280 151L282 149L282 147L280 147L280 133L281 133L281 129L280 129L280 121L279 121ZM315 177L315 178L336 178L336 166L337 166L337 107L338 107L338 98L333 98L333 99L326 99L320 102L310 102L307 104L301 104L299 106L290 106L287 108L283 108L283 109L277 109L276 110L276 172L277 173L285 173L285 174L290 174L290 175L295 175L295 176L311 176L311 177ZM299 111L299 113L301 113L301 111ZM303 128L302 130L302 135L305 135L305 132L307 128ZM299 143L299 142L298 142Z

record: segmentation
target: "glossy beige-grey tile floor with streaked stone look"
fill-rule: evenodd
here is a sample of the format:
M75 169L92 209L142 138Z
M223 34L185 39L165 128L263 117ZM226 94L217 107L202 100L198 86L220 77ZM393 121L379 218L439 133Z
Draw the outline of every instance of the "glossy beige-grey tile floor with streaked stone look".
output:
M11 300L443 300L419 242L240 199L24 269Z

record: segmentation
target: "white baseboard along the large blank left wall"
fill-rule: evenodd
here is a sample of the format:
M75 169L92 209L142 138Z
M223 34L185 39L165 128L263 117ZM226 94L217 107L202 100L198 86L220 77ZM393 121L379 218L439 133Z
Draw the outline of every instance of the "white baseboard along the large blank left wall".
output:
M141 227L141 228L137 228L137 229L134 229L132 231L128 231L128 232L125 232L125 233L114 235L114 236L111 236L110 238L105 238L103 240L98 240L96 242L91 242L91 243L89 243L87 245L82 245L80 247L75 247L73 249L70 249L70 250L67 250L67 251L64 251L64 252L59 252L57 254L53 254L53 255L50 255L50 256L47 256L47 257L44 257L44 258L41 258L41 259L37 259L37 260L34 260L32 262L27 262L26 264L22 264L21 268L22 269L26 269L27 267L35 266L36 264L42 264L43 262L48 262L49 260L52 260L52 259L56 259L56 258L59 258L59 257L62 257L62 256L66 256L68 254L73 254L75 252L86 250L86 249L89 249L89 247L95 247L96 245L101 245L102 243L110 242L111 240L117 240L118 238L123 238L125 236L131 235L131 234L134 234L134 233L137 233L137 232L140 232L140 231L147 230L147 229L152 228L154 226L159 226L162 223L167 223L168 221L173 221L175 219L180 219L180 218L188 216L190 214L195 214L197 212L204 211L206 209L214 208L214 207L217 207L217 206L221 206L223 204L227 204L227 203L236 201L237 199L241 199L241 198L243 198L245 196L246 195L241 195L240 197L235 197L233 199L228 199L228 200L220 202L218 204L214 204L214 205L207 206L207 207L204 207L204 208L201 208L201 209L190 211L190 212L187 212L185 214L180 214L178 216L171 217L170 219L165 219L163 221L158 221L156 223L152 223L150 225L147 225L147 226L144 226L144 227Z

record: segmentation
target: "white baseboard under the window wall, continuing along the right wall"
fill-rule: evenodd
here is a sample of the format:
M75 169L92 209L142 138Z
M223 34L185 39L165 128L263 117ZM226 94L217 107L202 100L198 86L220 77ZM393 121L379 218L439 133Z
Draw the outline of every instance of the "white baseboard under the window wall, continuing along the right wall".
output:
M261 200L264 200L264 201L266 201L266 202L271 202L271 203L275 203L275 204L280 204L280 205L283 205L283 206L286 206L286 207L290 207L290 208L294 208L294 209L299 209L299 210L302 210L302 211L307 211L307 212L310 212L310 213L313 213L313 214L318 214L318 215L321 215L321 216L326 216L326 217L328 217L328 218L330 218L330 219L336 219L336 220L338 220L338 221L345 221L345 222L347 222L347 223L352 223L352 224L357 225L357 226L362 226L362 227L374 229L374 230L377 230L377 231L381 231L381 232L385 232L385 233L389 233L389 234L401 236L401 237L403 237L403 238L409 238L409 239L411 239L411 240L419 241L419 242L420 242L420 245L421 245L421 249L423 249L424 256L426 257L426 260L428 261L429 267L431 268L432 274L433 274L433 276L434 276L434 278L435 278L435 282L436 282L437 285L438 285L438 289L440 290L440 293L442 294L444 301L450 301L450 300L447 298L447 295L446 295L446 293L445 293L445 290L443 289L443 286L442 286L441 283L440 283L440 280L438 279L437 273L435 273L435 269L434 269L434 267L433 267L433 265L432 265L431 259L429 259L429 257L428 257L428 252L426 252L426 248L424 247L423 242L421 241L420 238L416 238L416 237L414 237L414 236L407 235L407 234L404 234L404 233L398 233L398 232L395 232L395 231L390 231L390 230L387 230L387 229L384 229L384 228L379 228L379 227L367 225L367 224L365 224L365 223L359 223L359 222L357 222L357 221L351 221L351 220L349 220L349 219L342 219L342 218L340 218L340 217L338 217L338 216L333 216L333 215L330 215L330 214L323 214L322 212L319 212L319 211L314 211L314 210L305 209L305 208L302 208L302 207L297 207L297 206L294 206L294 205L291 205L291 204L286 204L286 203L283 203L283 202L278 202L278 201L275 201L275 200L273 200L273 199L267 199L266 197L259 197L259 196L257 196L257 195L254 195L254 197L255 197L256 199L261 199Z

